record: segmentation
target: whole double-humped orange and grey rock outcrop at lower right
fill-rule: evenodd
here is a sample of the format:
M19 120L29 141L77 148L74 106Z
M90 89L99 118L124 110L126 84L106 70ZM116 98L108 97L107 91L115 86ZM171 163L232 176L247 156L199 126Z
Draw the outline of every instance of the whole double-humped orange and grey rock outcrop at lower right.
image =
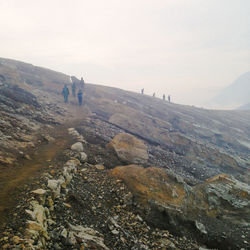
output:
M250 238L250 188L221 174L193 187L166 170L118 166L111 175L122 179L143 204L145 219L181 236L189 235L212 248L240 249ZM248 243L248 242L247 242Z

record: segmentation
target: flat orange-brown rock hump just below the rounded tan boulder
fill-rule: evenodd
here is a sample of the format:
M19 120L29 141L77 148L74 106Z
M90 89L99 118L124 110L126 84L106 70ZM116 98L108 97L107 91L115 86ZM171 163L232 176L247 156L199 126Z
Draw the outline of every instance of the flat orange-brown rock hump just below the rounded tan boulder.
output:
M154 199L177 209L186 195L184 184L178 183L174 176L167 175L162 168L128 165L118 166L110 173L122 179L143 203Z

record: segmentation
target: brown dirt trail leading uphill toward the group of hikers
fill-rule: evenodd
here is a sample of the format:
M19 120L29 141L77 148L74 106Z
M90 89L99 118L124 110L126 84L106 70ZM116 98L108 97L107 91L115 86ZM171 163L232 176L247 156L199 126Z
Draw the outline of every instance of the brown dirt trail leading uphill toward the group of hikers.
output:
M29 153L31 160L23 159L15 166L0 168L0 228L4 227L24 186L31 185L34 177L48 169L52 160L72 143L67 129L77 126L87 112L83 107L75 105L68 105L67 108L69 113L64 119L65 122L48 131L54 141L37 145L33 152Z

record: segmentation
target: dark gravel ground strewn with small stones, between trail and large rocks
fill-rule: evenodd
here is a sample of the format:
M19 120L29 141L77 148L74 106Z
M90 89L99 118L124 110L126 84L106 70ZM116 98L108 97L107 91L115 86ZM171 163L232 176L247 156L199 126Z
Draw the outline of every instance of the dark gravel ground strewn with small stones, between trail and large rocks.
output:
M53 192L47 187L48 180L60 178L66 161L79 158L78 153L69 148L51 160L51 166L45 173L22 188L22 199L1 233L1 248L105 249L100 246L101 240L109 249L198 249L194 241L151 227L142 219L139 214L143 213L143 208L127 187L122 181L109 176L108 168L111 166L107 167L103 158L105 140L97 140L97 137L98 133L93 137L88 133L84 151L90 162L78 165L71 182L61 189L59 197L54 198L53 211L50 211L53 223L48 223L46 229L48 237L44 238L41 233L38 238L27 235L27 220L31 218L25 210L31 209L32 201L38 199L31 195L31 191L37 188L47 190L43 207L50 206L48 200L53 197ZM106 153L106 156L111 155L111 152ZM114 156L109 162L112 165L116 161ZM72 226L93 229L95 237L99 238L87 240L74 236L75 240L72 240Z

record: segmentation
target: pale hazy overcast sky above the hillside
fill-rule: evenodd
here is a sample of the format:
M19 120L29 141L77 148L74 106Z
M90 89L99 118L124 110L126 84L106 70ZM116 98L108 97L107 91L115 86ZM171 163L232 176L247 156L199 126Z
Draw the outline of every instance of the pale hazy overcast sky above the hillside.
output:
M0 0L0 57L201 105L250 71L250 0Z

